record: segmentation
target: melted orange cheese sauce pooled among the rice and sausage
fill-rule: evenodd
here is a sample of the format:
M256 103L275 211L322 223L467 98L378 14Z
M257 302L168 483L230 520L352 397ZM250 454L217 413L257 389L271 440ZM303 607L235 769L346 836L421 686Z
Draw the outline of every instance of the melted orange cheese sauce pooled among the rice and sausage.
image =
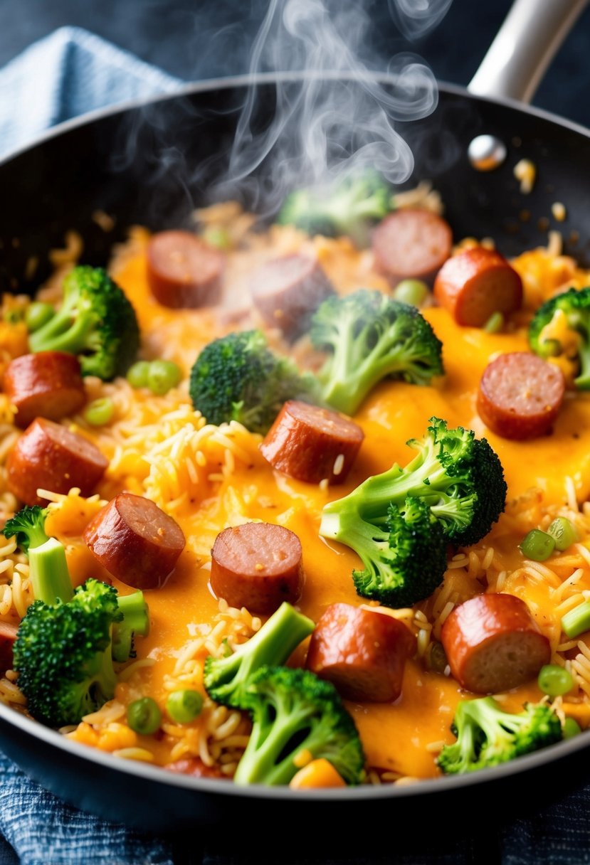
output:
M220 311L176 311L157 304L146 282L144 241L144 235L138 235L131 252L115 262L113 276L138 312L143 356L174 360L188 375L202 347L235 325ZM387 288L382 278L371 272L370 253L358 253L349 241L308 240L291 229L281 232L274 228L266 239L258 240L246 251L230 254L226 308L247 306L247 277L260 261L271 253L278 255L301 247L311 247L317 253L330 279L344 293L362 286ZM523 275L529 309L553 295L560 286L586 284L587 275L576 270L571 259L550 258L544 251L525 253L515 266ZM585 501L590 495L590 394L568 393L552 435L526 443L501 439L478 418L478 382L487 363L498 353L528 349L526 314L510 332L491 335L484 330L460 328L443 309L432 307L423 312L443 343L446 375L426 388L392 381L375 388L355 418L366 438L345 484L322 489L300 483L274 472L259 458L248 464L237 463L231 476L208 484L201 497L187 499L174 509L173 516L187 537L187 548L165 586L145 593L151 612L151 633L137 641L138 658L150 658L154 663L138 670L133 688L127 684L119 686L119 700L127 702L139 689L164 705L168 693L166 677L172 674L183 647L195 636L198 626L211 623L218 612L217 600L208 586L207 550L216 532L234 524L236 513L242 522L251 519L279 522L298 535L305 567L305 588L298 606L306 615L317 620L327 606L337 601L362 603L351 579L353 567L358 566L356 554L319 537L321 510L325 503L342 497L369 475L387 470L394 462L404 465L413 455L406 445L407 439L420 437L433 415L446 419L449 426L470 427L478 437L489 439L503 464L509 500L526 497L531 488L536 490L523 499L526 506L503 517L478 546L482 550L494 548L494 573L506 572L502 590L527 600L539 625L556 646L559 632L555 633L552 618L555 603L551 599L555 585L541 579L531 581L521 573L523 555L517 545L530 528L542 521L545 506L565 503L565 477L573 479L578 501ZM256 324L246 320L246 324L239 326ZM286 350L285 346L282 348ZM85 432L93 436L92 431ZM99 446L104 444L98 436L96 440ZM147 471L141 465L141 457L130 457L126 469L116 477L106 477L99 488L103 497L111 497L119 489L143 491ZM95 563L80 544L74 542L68 554L77 581L90 575L104 576L97 573ZM549 561L548 566L555 564L559 568L559 555L555 560L555 563ZM564 566L558 570L560 579L567 579L572 569ZM484 591L484 583L470 576L465 568L458 568L453 579L461 599ZM123 593L130 591L116 580L115 585ZM590 589L590 568L580 586ZM420 605L426 614L432 612L428 603ZM303 650L298 653L298 660L303 660ZM418 657L407 663L402 695L395 704L347 703L361 734L368 765L415 778L437 774L436 743L452 741L449 727L462 696L457 682L427 670L424 659ZM525 700L536 701L541 696L532 682L508 695L504 705L518 711ZM581 698L576 706L572 714L577 712L580 717L587 714ZM196 721L194 726L198 724ZM80 734L80 739L84 740L84 735ZM156 741L152 737L137 739L151 750L158 763L170 759L170 740L166 736Z

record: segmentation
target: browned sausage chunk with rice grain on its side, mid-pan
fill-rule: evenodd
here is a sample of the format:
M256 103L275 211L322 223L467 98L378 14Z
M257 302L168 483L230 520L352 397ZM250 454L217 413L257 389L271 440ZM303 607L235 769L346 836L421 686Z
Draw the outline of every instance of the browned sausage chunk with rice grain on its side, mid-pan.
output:
M289 400L260 445L275 469L308 484L327 478L342 484L355 461L364 432L350 418L329 408Z

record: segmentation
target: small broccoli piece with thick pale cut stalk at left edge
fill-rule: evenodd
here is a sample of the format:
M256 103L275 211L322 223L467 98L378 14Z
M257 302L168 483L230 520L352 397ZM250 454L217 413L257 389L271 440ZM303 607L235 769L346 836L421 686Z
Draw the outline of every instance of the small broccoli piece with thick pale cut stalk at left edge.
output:
M67 570L66 550L60 541L48 537L45 531L47 508L35 504L22 508L7 520L4 537L16 535L16 543L29 556L29 576L35 600L55 604L71 599L73 588Z

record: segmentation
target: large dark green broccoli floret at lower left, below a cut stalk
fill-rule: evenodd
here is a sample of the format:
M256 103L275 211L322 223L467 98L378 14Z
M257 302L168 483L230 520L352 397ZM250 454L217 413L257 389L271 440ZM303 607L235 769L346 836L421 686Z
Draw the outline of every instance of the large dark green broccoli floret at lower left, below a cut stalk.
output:
M120 618L117 590L98 580L87 580L67 603L29 606L16 634L14 669L37 721L77 724L112 699L111 629Z

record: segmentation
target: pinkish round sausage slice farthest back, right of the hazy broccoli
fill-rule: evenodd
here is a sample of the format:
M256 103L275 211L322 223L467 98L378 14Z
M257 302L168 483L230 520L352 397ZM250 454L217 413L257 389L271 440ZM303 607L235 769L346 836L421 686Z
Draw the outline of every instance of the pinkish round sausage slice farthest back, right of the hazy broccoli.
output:
M395 210L379 223L373 234L375 270L386 276L392 287L401 279L432 283L451 248L450 225L429 210Z

